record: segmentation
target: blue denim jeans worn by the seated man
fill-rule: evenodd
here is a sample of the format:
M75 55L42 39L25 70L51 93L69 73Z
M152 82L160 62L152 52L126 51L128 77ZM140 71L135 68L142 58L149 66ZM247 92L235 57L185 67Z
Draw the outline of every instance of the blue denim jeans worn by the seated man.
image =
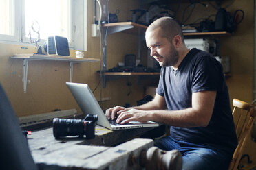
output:
M232 154L221 147L205 147L194 143L178 141L170 136L160 138L154 145L162 150L177 149L182 154L182 170L226 170Z

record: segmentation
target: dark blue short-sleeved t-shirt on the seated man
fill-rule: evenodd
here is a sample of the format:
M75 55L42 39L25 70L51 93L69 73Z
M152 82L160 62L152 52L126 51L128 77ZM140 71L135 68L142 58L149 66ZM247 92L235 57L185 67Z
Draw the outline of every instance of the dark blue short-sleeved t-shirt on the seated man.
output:
M192 94L216 91L215 106L206 127L171 127L176 140L201 145L219 145L228 151L237 146L235 125L229 102L228 88L222 65L211 54L191 49L175 71L162 67L156 93L165 98L168 110L182 110L192 106Z

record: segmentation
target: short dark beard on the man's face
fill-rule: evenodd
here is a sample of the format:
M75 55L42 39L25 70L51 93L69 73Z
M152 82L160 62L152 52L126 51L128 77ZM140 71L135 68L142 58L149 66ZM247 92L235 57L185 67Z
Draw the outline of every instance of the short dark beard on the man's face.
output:
M178 51L174 49L173 45L168 56L161 56L164 58L163 62L159 62L160 66L175 66L178 62Z

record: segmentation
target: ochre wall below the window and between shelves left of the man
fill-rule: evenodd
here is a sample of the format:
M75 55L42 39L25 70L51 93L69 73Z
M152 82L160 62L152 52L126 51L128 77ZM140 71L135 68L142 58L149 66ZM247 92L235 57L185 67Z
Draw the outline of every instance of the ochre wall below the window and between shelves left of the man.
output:
M100 58L100 39L92 38L90 25L93 23L93 1L88 1L88 45L85 57ZM138 8L137 1L109 1L109 12L118 14L119 21L131 19L131 9ZM23 49L25 47L27 49ZM76 101L65 86L69 82L69 63L56 61L30 61L28 66L27 93L23 93L23 62L10 59L15 53L35 53L34 45L10 45L0 43L0 82L6 90L8 98L18 117L52 112L55 109L67 110L79 108ZM71 50L71 57L74 51ZM123 62L123 56L127 53L138 53L138 38L129 34L118 33L107 38L107 69L116 66L117 62ZM100 68L100 62L74 64L73 82L87 83L93 90L99 82L96 73ZM132 86L128 87L127 82ZM110 97L110 101L102 104L103 109L111 106L124 106L125 103L135 105L138 99L143 97L143 84L138 85L137 77L126 77L120 80L107 82L107 88L103 88L102 97ZM130 92L130 95L127 95ZM100 98L100 88L94 95Z

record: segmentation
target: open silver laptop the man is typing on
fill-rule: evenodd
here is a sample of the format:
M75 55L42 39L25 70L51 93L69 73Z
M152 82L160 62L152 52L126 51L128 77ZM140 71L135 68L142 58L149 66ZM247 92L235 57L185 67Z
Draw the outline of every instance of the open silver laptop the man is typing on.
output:
M66 82L67 87L70 89L74 99L78 106L81 108L83 114L96 114L98 115L97 124L106 127L109 130L122 130L122 129L133 129L141 127L158 127L159 124L153 121L148 122L138 122L131 121L127 124L117 124L111 120L108 120L105 116L103 110L100 108L98 101L95 99L92 91L90 90L88 84L71 83ZM111 122L111 123L110 123Z

